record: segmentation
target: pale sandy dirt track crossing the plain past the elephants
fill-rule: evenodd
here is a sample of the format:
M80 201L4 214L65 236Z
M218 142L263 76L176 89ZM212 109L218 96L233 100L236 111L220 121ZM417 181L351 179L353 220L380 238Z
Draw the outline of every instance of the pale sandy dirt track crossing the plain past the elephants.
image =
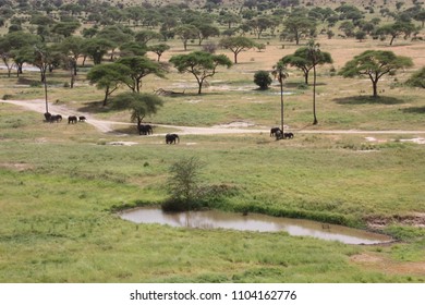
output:
M36 111L39 113L46 112L45 100L35 99L35 100L1 100L2 102L13 103L32 111ZM106 121L94 119L87 112L75 111L66 108L62 105L49 103L49 112L52 114L61 114L63 117L68 115L84 115L87 119L87 123L95 126L98 131L102 133L113 133L113 125L132 125L131 123L124 122L114 122L114 121ZM179 134L205 134L205 135L215 135L215 134L244 134L244 133L269 133L268 127L262 129L253 129L250 126L241 127L243 124L228 124L228 125L216 125L211 127L193 127L193 126L175 126L175 125L165 125L165 124L156 124L161 127L170 127L179 130ZM294 130L292 130L294 131ZM359 130L296 130L296 133L303 134L425 134L425 131L359 131Z

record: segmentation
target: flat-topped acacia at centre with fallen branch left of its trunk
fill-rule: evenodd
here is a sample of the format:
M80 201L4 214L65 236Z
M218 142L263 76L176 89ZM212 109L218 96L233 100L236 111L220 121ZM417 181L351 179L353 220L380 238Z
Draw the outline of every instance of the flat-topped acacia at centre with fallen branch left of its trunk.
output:
M204 81L216 74L218 65L230 68L232 62L224 54L211 54L205 51L195 51L189 54L173 56L170 62L180 73L192 73L198 84L197 94L201 95Z

